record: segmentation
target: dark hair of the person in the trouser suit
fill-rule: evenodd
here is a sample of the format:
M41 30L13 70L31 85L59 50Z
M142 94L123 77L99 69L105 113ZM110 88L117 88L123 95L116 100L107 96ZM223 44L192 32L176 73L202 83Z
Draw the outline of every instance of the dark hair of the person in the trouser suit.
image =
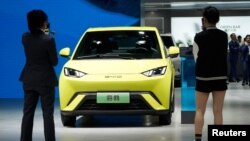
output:
M28 28L32 34L37 33L44 22L48 21L47 14L42 10L31 10L27 14Z

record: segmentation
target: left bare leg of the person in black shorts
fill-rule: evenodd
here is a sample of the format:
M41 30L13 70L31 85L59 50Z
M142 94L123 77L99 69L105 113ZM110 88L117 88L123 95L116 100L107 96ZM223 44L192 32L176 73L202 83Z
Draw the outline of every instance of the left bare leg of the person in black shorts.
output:
M208 97L209 93L196 91L195 134L202 134Z

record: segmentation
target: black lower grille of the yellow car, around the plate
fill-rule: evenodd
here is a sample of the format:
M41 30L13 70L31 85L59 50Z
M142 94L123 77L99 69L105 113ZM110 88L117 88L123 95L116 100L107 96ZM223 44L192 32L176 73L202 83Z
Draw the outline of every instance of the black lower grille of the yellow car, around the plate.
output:
M148 110L152 109L140 95L131 95L128 104L98 104L95 95L87 95L77 110Z

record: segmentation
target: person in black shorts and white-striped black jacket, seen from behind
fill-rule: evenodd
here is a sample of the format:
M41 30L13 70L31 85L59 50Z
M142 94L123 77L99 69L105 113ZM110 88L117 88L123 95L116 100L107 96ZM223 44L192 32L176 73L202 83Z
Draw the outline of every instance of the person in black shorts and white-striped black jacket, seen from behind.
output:
M223 103L227 89L228 35L216 28L219 11L206 7L202 25L205 30L194 37L193 54L196 61L195 138L201 141L204 114L209 93L213 96L214 124L223 123Z

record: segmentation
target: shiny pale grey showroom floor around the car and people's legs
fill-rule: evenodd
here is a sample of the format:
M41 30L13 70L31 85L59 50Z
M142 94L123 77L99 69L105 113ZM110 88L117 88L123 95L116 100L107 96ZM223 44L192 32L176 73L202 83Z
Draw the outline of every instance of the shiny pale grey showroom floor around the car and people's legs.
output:
M55 105L57 141L193 141L193 124L181 124L181 90L176 88L176 109L172 124L160 126L154 116L78 117L76 127L63 127L58 101ZM20 99L0 99L0 141L17 141L22 117ZM207 141L207 124L213 123L209 98L203 139ZM250 124L250 87L230 83L224 106L225 124ZM34 121L34 141L44 141L40 105Z

